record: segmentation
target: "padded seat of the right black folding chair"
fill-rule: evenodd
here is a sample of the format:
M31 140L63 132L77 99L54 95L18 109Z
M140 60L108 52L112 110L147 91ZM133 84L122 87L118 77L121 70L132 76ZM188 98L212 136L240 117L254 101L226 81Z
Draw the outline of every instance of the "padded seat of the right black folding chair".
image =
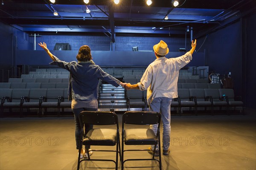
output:
M125 129L125 144L157 144L157 137L154 131L148 128Z

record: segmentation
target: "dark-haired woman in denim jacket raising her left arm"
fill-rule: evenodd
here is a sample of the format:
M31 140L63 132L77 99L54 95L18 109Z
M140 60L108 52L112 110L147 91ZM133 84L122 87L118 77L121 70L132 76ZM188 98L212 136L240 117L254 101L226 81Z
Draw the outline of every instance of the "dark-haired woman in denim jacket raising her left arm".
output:
M40 42L40 45L49 55L53 62L50 65L57 65L70 72L70 82L68 88L69 100L72 100L71 108L75 116L76 123L76 149L79 149L81 126L79 122L79 113L81 111L96 111L98 108L98 83L99 79L118 87L125 86L126 83L120 82L118 79L107 74L95 65L88 45L80 47L76 56L76 61L65 62L55 57L47 48L46 43ZM93 128L93 125L85 125L85 134ZM90 148L90 147L89 147ZM93 151L90 151L91 155ZM81 158L87 156L85 150L81 150Z

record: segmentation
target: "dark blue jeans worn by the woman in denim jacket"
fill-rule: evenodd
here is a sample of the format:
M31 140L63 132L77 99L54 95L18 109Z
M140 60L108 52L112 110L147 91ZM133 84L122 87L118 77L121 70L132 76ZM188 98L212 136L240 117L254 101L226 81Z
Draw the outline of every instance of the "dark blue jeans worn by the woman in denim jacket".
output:
M75 123L76 123L76 131L75 131L75 136L76 136L76 149L79 149L79 142L80 142L80 132L81 132L81 125L79 121L79 114L81 111L97 111L95 108L76 108L72 109L74 116L75 116ZM93 128L93 125L85 125L85 130L84 133L87 134L89 130ZM90 146L88 146L90 148Z

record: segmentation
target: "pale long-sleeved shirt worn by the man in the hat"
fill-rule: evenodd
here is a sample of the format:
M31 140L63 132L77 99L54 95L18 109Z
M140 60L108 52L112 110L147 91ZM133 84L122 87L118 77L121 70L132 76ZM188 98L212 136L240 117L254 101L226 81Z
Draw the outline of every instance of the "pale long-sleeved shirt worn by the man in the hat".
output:
M177 81L179 70L192 60L192 55L187 52L181 57L160 57L155 59L146 69L143 77L138 82L141 91L147 90L148 104L156 97L177 98Z

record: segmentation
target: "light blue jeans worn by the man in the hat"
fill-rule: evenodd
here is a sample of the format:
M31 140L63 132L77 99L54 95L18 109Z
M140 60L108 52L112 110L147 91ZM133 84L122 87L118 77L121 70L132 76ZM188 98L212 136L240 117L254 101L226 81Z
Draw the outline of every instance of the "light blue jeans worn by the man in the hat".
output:
M161 113L162 123L163 123L163 150L168 150L170 147L170 135L171 135L171 98L167 97L157 97L149 105L149 111L154 111ZM157 126L150 125L150 128L157 134ZM154 149L154 145L151 146ZM159 150L158 145L156 150Z

